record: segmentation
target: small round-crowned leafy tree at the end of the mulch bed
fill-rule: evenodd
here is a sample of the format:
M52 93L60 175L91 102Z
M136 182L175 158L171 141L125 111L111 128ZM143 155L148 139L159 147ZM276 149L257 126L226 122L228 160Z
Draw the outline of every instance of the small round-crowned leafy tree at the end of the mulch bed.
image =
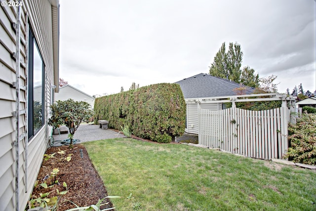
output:
M74 101L68 99L65 101L58 100L50 105L50 115L48 125L53 127L60 127L65 125L70 132L70 145L73 146L73 137L75 131L78 129L80 123L88 122L93 113L89 109L89 104L84 101Z

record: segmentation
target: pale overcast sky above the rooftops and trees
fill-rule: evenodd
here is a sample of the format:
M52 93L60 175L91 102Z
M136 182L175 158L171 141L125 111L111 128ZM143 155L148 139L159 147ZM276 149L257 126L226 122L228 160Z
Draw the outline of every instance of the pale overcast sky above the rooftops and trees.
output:
M60 0L60 78L90 95L174 83L237 42L278 92L314 92L315 33L315 0Z

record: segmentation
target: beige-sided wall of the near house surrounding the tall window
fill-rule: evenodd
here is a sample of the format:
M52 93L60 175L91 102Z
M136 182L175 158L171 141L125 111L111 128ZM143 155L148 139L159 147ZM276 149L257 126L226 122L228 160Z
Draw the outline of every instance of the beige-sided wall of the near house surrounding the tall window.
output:
M58 14L57 0L22 0L20 6L20 65L16 66L16 32L18 7L1 6L0 9L0 210L23 211L33 190L48 143L51 128L47 127L51 84L58 77L58 43L53 42L52 14ZM56 16L55 16L56 17ZM44 68L44 125L28 139L28 37L29 25L33 29ZM58 28L56 29L58 31ZM58 34L58 33L57 33ZM56 46L57 44L57 46ZM57 59L57 61L56 61ZM54 63L55 62L55 63ZM57 63L56 63L57 62ZM17 67L20 66L19 71ZM54 70L55 69L55 70ZM16 73L19 74L19 112L16 112ZM58 78L57 78L58 79ZM58 84L58 81L57 81ZM19 116L19 130L16 117ZM19 135L19 141L15 140ZM18 152L18 153L16 153ZM18 164L18 166L17 166ZM16 183L16 175L18 175ZM16 194L18 198L16 197Z

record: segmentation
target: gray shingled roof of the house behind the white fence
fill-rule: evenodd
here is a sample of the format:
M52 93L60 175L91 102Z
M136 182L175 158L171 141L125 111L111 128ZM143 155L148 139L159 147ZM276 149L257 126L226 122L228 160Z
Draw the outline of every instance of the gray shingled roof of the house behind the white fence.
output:
M175 82L175 84L180 85L184 98L237 95L234 88L240 87L238 83L203 73ZM248 87L246 94L251 94L254 90Z

